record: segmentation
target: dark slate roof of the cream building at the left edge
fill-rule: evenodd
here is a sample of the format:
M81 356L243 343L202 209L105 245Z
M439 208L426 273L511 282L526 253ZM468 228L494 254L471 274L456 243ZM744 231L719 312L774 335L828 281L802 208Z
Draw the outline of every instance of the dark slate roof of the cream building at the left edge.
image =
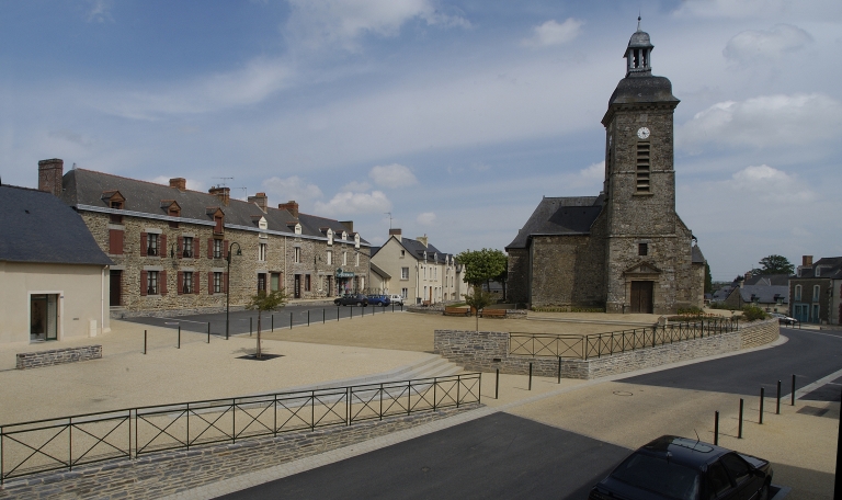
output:
M50 193L0 185L0 260L113 264L82 218Z

